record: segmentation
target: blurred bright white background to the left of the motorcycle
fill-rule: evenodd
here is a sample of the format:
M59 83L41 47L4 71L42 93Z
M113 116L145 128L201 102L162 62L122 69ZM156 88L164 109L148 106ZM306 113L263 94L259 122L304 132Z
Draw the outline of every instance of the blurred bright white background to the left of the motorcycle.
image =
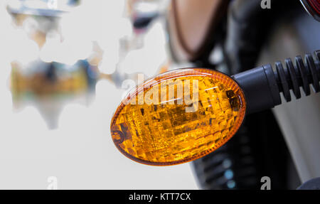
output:
M198 188L188 163L132 162L110 136L137 74L176 66L167 0L0 2L0 188Z

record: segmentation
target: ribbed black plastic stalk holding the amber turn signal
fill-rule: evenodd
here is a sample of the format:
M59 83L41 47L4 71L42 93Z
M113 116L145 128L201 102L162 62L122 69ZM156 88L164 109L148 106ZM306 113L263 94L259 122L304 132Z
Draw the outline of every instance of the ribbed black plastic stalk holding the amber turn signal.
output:
M271 65L264 65L252 70L247 70L232 76L238 82L247 102L247 114L260 112L281 104L280 92L284 99L291 101L290 90L295 97L301 97L300 87L305 95L310 95L310 84L314 92L320 91L320 50L306 54L304 60L301 56L292 60L285 60L285 67L281 62L275 63L275 69Z

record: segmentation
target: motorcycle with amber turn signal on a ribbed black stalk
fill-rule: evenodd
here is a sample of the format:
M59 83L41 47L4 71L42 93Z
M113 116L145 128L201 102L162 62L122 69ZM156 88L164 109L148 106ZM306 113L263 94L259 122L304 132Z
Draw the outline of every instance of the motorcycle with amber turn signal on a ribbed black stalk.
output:
M320 96L309 87L319 92L320 52L315 51L320 48L319 8L319 1L172 0L165 15L171 58L176 64L191 63L195 68L156 76L124 99L112 119L114 144L140 163L163 166L192 161L203 189L319 188ZM313 51L314 55L308 54ZM303 53L307 53L304 60ZM284 63L278 61L285 58ZM265 65L270 62L276 63ZM199 75L210 76L219 87L206 87L206 92L201 92L201 85L186 85L186 80ZM140 93L148 95L150 87L179 77L184 80L181 87L188 87L189 97L191 87L199 87L199 98L215 89L213 95L218 96L221 114L231 109L234 116L232 120L228 117L227 123L232 123L227 124L228 133L225 128L211 132L214 122L220 125L224 121L218 120L216 110L199 111L205 107L204 101L197 101L197 114L167 108L162 100L153 106L139 103ZM223 92L223 86L228 91ZM170 98L169 93L170 99L178 100L178 94ZM228 105L225 109L222 99ZM208 97L209 102L214 100ZM130 107L130 102L141 105L139 112ZM212 103L206 110L214 106ZM129 110L134 112L133 119L122 117L130 114ZM201 117L213 113L210 122ZM148 114L151 120L142 120ZM135 120L144 123L141 129ZM160 132L154 129L157 125ZM168 131L169 127L174 133ZM208 127L210 131L205 131ZM144 128L148 134L144 134ZM211 139L201 136L209 132ZM187 141L194 135L198 137ZM170 139L162 139L167 137ZM269 183L267 187L264 182Z

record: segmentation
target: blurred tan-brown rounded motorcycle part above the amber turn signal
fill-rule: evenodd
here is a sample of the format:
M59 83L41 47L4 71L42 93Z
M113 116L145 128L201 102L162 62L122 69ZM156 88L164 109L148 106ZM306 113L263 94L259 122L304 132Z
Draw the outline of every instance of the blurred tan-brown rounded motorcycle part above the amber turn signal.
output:
M173 0L168 14L171 55L177 62L192 61L208 67L208 55L223 38L229 1ZM199 64L200 63L200 64Z

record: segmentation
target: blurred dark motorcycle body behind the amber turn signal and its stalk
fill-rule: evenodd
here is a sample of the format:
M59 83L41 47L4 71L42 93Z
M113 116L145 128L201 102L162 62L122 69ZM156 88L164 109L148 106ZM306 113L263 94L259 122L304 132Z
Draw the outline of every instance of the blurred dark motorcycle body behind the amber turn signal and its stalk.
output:
M185 10L182 4L187 5ZM302 7L319 20L316 17L319 12L310 6L319 5L319 2L270 1L271 9L262 9L262 1L215 1L215 5L213 1L206 1L197 5L198 13L188 16L187 9L197 11L191 9L194 8L191 4L197 3L171 2L168 27L171 53L176 61L188 59L195 66L234 75L257 65L319 49L319 22L308 16ZM201 14L201 6L208 6L210 15ZM211 18L206 17L208 15ZM201 22L200 29L187 23L186 16L196 18L192 23ZM211 23L206 24L207 21ZM183 33L181 36L178 28ZM204 34L205 31L208 32ZM195 36L196 39L191 40ZM192 45L194 41L198 44ZM185 55L181 54L183 50ZM210 54L214 54L212 50L218 50L223 59L210 61ZM319 100L319 95L311 95L294 100L294 104L248 115L238 133L225 146L193 161L201 188L259 189L260 178L269 176L273 189L294 189L319 177L315 156L319 152L316 153L313 143L319 140L316 125L319 124ZM306 114L307 109L313 114ZM311 150L306 146L313 146L314 156L307 153Z

